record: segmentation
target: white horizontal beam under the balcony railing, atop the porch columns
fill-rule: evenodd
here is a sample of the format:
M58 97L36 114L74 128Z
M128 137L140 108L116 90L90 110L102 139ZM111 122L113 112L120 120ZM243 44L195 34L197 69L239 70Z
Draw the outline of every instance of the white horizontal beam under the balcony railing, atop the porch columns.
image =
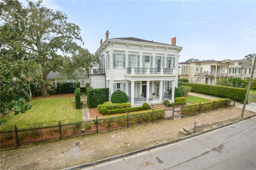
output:
M140 74L140 75L130 75L130 74L124 74L125 79L129 81L172 81L172 80L177 80L177 76L175 75L159 75L159 74L150 74L150 75L145 75L145 74Z

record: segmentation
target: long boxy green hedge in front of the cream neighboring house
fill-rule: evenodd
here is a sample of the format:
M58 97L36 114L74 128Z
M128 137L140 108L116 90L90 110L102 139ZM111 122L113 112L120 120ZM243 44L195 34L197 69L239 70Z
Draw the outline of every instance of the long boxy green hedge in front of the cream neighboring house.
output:
M207 94L211 96L218 96L220 98L230 98L236 97L236 101L244 102L246 91L245 88L227 87L227 86L216 86L208 84L198 84L198 83L185 83L179 82L179 86L191 86L191 92Z

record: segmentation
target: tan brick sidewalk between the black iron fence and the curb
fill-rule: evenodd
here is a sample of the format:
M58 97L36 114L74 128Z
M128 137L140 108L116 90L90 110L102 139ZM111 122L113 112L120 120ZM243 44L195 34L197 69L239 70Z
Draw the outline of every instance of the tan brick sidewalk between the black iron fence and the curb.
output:
M77 166L178 139L179 130L186 127L193 131L194 122L196 132L229 123L239 119L241 111L240 107L228 107L193 117L159 121L99 135L1 150L0 169L56 170ZM252 114L255 113L246 110L244 117Z

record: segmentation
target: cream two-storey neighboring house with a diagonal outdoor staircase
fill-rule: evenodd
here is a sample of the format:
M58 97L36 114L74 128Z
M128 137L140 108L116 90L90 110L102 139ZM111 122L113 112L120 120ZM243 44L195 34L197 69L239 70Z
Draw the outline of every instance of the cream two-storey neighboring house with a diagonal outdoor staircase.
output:
M198 61L179 63L178 76L186 78L190 83L212 84L221 78L228 77L230 63L223 61Z

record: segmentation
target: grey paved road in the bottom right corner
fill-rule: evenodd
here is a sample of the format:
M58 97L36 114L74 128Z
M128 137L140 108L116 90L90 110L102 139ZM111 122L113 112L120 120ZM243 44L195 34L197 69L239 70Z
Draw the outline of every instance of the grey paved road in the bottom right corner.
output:
M94 167L97 170L256 169L256 117L179 143Z

